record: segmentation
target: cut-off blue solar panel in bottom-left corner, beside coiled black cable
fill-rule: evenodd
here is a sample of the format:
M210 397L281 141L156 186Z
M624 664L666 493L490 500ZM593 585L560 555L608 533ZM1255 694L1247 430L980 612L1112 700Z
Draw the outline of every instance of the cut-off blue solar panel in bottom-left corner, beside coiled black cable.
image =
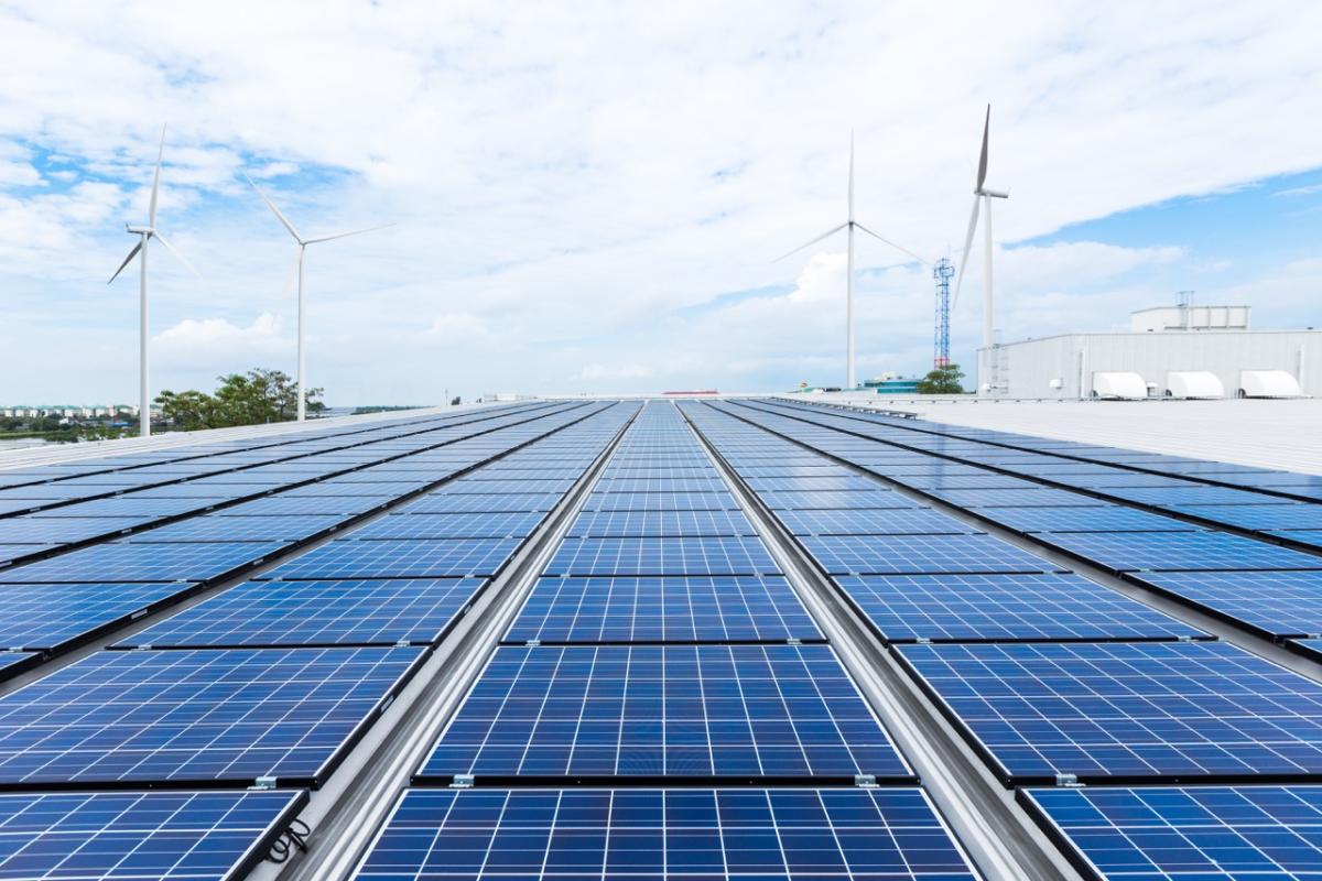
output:
M0 794L0 878L229 881L266 857L304 793Z

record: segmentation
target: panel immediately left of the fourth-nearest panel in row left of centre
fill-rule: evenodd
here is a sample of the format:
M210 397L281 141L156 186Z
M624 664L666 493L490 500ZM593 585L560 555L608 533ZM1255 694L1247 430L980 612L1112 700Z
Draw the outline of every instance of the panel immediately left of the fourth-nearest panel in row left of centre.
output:
M9 582L208 581L286 547L279 542L130 544L110 542L0 572Z

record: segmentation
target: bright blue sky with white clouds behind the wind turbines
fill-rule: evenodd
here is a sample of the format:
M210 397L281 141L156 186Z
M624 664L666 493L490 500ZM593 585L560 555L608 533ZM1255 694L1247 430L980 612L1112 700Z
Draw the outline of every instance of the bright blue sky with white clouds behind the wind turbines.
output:
M839 384L858 218L960 260L992 110L1003 341L1175 301L1322 326L1322 4L0 1L0 403L296 365L336 405ZM980 232L981 239L981 232ZM859 376L932 362L931 267L861 238ZM952 354L981 339L981 252Z

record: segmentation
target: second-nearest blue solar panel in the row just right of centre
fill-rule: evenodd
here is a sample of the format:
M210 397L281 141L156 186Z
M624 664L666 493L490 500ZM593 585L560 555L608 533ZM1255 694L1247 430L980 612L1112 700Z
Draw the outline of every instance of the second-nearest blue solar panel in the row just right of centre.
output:
M1322 774L1322 684L1228 643L899 652L1007 783Z

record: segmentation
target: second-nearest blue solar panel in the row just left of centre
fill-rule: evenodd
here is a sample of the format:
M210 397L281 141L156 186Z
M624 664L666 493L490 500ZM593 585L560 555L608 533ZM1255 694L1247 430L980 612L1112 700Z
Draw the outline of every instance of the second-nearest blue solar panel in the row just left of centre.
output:
M98 651L0 696L0 785L315 785L422 651Z

